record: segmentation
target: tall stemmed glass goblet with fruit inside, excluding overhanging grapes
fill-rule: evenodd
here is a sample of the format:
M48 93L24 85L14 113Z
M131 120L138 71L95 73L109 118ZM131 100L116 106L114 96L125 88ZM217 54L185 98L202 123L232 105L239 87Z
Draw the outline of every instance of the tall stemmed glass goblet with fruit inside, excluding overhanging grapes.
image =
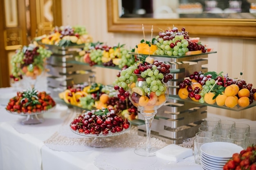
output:
M150 82L149 79L146 81L147 78L150 77L138 77L136 82L130 83L129 99L138 108L146 124L146 147L135 149L135 153L141 156L155 156L157 148L151 146L150 127L157 109L164 105L168 99L169 89L168 85L163 83L162 80L157 80L155 84L153 81Z

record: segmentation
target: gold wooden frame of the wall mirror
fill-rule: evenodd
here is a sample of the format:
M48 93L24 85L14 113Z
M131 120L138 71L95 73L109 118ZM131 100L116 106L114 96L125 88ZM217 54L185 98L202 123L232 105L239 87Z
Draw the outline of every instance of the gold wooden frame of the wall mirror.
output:
M145 33L165 30L168 27L185 27L189 35L199 37L231 37L256 39L256 19L230 18L178 18L156 19L142 17L119 17L119 0L107 1L108 31L115 33Z

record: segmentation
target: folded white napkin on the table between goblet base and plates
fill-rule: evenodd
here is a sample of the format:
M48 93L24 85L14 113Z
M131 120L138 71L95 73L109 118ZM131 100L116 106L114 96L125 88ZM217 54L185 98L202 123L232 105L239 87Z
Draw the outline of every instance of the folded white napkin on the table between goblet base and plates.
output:
M193 155L192 148L183 148L176 144L170 144L156 151L156 156L167 161L180 161Z

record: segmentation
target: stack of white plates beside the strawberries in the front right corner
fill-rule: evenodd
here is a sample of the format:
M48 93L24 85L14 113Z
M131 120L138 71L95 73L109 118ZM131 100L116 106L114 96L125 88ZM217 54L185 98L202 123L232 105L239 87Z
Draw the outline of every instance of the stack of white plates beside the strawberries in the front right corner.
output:
M201 165L204 170L223 170L223 166L241 146L228 142L211 142L201 146Z

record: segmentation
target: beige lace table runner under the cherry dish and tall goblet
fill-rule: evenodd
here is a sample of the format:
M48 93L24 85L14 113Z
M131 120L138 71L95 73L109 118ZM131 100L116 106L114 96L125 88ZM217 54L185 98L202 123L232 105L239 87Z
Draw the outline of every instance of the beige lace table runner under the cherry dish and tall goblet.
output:
M77 135L70 130L69 124L75 116L76 113L70 114L58 131L44 141L45 145L53 150L59 151L77 152L88 150L90 148L88 147L88 144L92 142L93 138ZM112 146L115 148L136 148L139 145L146 145L146 137L137 134L137 126L132 126L128 132L122 135L112 136L111 139L115 141L115 144ZM152 137L151 145L156 148L163 148L168 144L160 139ZM193 138L187 139L180 144L180 146L193 148Z

